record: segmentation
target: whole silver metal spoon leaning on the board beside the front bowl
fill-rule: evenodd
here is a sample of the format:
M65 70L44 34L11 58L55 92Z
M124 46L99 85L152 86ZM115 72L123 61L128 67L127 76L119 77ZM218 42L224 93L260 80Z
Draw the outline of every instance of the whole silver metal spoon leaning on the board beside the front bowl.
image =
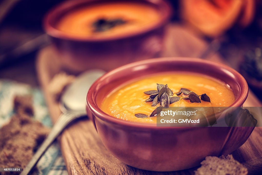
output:
M32 157L20 175L29 174L47 148L53 143L63 129L73 120L86 115L86 93L94 81L105 73L103 70L94 69L82 73L68 86L59 102L62 114L54 124L49 135Z

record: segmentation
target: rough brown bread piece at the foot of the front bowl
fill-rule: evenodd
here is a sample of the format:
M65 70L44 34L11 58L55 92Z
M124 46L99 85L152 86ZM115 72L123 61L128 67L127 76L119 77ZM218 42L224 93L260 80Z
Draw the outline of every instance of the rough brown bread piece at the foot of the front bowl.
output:
M228 156L207 156L201 162L201 167L195 171L195 175L246 175L248 174L247 168L241 163L236 161L232 155Z

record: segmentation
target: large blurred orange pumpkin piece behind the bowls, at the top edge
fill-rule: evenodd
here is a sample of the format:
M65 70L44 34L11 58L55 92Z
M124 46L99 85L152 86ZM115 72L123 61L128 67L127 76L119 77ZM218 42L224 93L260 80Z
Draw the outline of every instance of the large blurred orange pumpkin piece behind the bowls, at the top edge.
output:
M182 17L209 37L217 37L232 27L243 5L242 0L181 1Z

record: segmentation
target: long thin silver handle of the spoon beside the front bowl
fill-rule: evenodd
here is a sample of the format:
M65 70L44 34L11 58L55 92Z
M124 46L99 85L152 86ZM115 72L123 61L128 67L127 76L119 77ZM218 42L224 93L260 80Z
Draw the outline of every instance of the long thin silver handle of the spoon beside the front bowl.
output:
M53 143L53 141L56 139L56 137L63 131L63 129L74 119L77 119L78 115L73 113L65 113L61 114L54 124L52 130L48 134L45 141L42 143L42 145L38 148L35 155L32 157L28 165L23 169L20 175L27 175L30 173L31 169L36 165L36 163L39 161L41 156L45 153L47 148Z

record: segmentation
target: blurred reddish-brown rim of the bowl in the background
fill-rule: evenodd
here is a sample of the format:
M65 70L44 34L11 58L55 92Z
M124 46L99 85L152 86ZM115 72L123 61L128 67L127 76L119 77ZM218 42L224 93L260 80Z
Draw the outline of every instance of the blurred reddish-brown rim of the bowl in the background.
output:
M105 0L98 0L98 1L96 1L96 0L69 0L69 1L59 3L57 6L55 6L50 11L48 11L47 14L45 15L45 17L43 19L43 29L51 37L65 39L65 40L73 40L73 41L79 41L79 42L112 41L112 40L126 39L126 38L139 36L141 34L148 33L151 30L162 27L163 25L165 25L168 22L168 20L171 18L171 14L172 14L171 5L166 0L157 0L157 1L143 0L143 1L140 1L140 2L145 2L145 3L150 3L150 4L153 4L155 6L159 6L158 4L161 4L161 6L163 6L165 8L164 11L161 10L161 13L163 13L163 14L161 14L159 21L157 23L155 23L154 25L151 25L151 26L146 27L144 29L141 29L139 31L134 31L134 32L129 33L129 34L122 34L122 35L111 36L111 37L106 37L106 38L91 38L91 37L82 37L82 36L79 36L79 37L72 36L70 34L67 34L65 32L62 32L62 31L56 29L51 24L51 21L53 19L55 19L57 17L57 15L65 12L65 10L69 7L74 8L74 7L77 7L81 3L87 3L87 4L88 3L100 3L100 1L104 2ZM121 0L118 0L118 1L121 1ZM126 2L126 1L123 1L123 2ZM130 2L134 2L134 1L130 1Z

